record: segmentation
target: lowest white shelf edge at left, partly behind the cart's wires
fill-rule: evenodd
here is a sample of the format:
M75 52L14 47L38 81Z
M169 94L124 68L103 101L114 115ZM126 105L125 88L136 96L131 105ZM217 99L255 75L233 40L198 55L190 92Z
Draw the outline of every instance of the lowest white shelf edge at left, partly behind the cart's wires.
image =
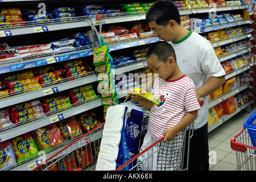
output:
M100 131L98 131L98 133L96 133L96 134L95 133L92 133L89 135L83 134L80 137L77 137L73 140L70 140L68 142L61 144L60 146L53 148L53 150L46 151L44 153L44 160L51 158L57 152L63 150L59 154L57 154L51 158L51 160L55 160L59 157L69 154L76 148L84 147L86 144L92 143L92 142L102 138L103 127L104 127L103 125L99 126L98 130L100 130ZM76 141L76 140L78 140L78 141ZM66 147L67 145L70 145L70 146ZM35 156L35 158L31 159L30 161L28 161L26 163L20 164L19 166L15 167L15 168L10 169L10 171L31 171L36 166L38 166L41 162L43 162L42 157L38 156L36 158L36 156Z

